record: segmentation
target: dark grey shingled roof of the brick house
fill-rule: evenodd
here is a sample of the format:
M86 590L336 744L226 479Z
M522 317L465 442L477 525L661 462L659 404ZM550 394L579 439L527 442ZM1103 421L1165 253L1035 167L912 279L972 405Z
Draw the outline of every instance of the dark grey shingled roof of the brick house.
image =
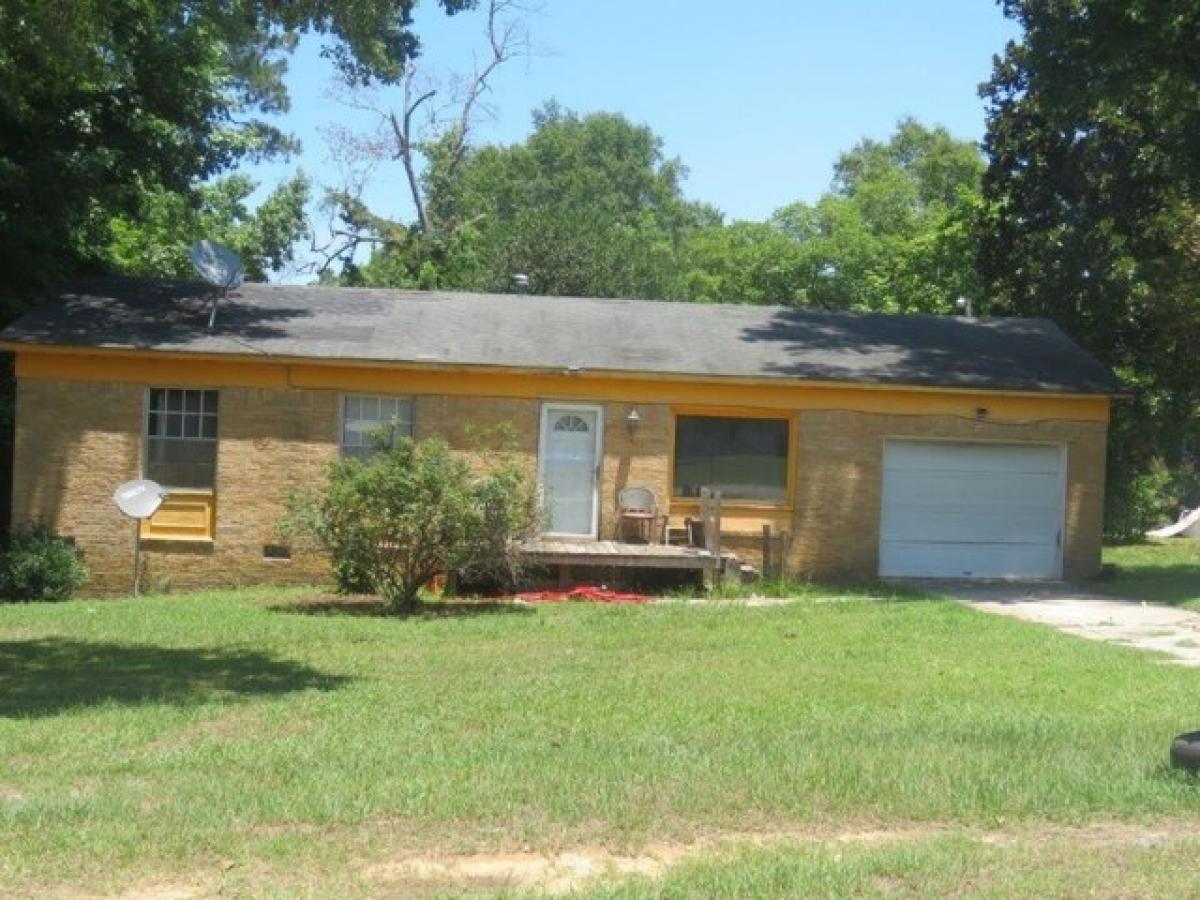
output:
M1112 394L1112 374L1042 319L136 278L60 290L13 343L138 350Z

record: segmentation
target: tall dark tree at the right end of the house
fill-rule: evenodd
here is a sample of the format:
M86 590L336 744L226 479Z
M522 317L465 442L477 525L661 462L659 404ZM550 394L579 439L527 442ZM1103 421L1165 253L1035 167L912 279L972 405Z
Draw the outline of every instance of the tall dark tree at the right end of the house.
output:
M1111 428L1109 530L1157 462L1188 480L1200 414L1200 7L1004 0L979 266L997 312L1045 316L1133 392ZM1175 500L1200 497L1176 493Z

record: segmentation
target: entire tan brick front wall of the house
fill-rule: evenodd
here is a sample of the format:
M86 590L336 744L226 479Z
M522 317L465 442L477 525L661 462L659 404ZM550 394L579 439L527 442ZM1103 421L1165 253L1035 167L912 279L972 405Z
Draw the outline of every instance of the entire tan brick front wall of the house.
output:
M133 526L112 503L113 490L138 478L145 386L128 383L18 380L13 522L40 520L76 539L92 572L92 593L130 589ZM292 560L265 559L278 542L277 523L293 490L320 484L338 452L335 390L222 388L216 481L216 532L208 544L144 541L148 588L217 584L311 583L328 578L326 562L313 553ZM605 410L600 487L600 534L616 536L617 494L626 485L670 497L672 407L636 404L641 422L626 424L634 406L601 402ZM476 432L506 426L503 448L536 470L541 401L425 394L414 397L415 433L442 437L476 466L496 458L496 436L480 444ZM1066 575L1099 568L1104 491L1105 425L1085 421L1006 424L952 415L887 415L802 409L794 431L796 494L790 509L731 510L734 533L725 540L757 562L755 532L762 521L792 534L793 574L818 580L866 580L878 560L880 491L887 437L1049 442L1068 449ZM672 510L672 524L684 511Z

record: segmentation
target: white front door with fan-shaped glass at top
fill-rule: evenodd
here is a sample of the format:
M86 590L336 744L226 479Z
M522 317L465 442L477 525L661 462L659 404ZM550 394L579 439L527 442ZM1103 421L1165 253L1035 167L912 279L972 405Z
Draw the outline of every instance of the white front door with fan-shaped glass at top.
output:
M602 427L600 407L546 403L541 408L538 469L547 534L596 536Z

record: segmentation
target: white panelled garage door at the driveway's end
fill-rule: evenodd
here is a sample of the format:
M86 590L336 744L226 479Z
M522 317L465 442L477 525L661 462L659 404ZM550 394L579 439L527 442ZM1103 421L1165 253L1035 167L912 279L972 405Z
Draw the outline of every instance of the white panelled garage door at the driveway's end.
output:
M1031 444L887 442L880 575L1058 577L1063 456Z

